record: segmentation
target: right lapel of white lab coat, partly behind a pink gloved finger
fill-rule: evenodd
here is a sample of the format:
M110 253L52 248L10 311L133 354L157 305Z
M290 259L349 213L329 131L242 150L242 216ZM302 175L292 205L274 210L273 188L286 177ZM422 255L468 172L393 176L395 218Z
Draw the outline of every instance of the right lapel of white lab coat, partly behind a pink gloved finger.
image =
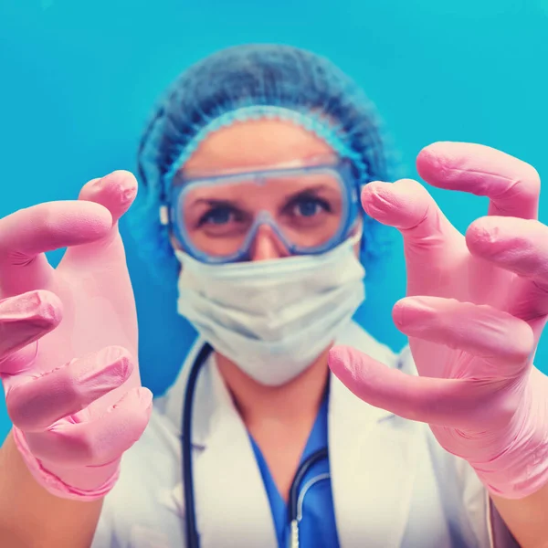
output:
M389 361L378 342L359 344L353 338L351 343ZM388 365L395 366L391 357ZM402 543L416 476L416 432L403 419L361 401L332 375L330 466L341 548L395 548Z

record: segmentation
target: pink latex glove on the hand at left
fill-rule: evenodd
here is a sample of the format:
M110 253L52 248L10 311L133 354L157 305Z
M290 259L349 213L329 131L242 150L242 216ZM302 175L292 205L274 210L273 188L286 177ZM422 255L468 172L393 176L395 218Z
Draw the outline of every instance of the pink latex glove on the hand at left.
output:
M28 469L53 494L104 496L141 436L137 320L118 219L137 183L115 172L78 201L0 219L0 377ZM53 269L45 251L68 248Z

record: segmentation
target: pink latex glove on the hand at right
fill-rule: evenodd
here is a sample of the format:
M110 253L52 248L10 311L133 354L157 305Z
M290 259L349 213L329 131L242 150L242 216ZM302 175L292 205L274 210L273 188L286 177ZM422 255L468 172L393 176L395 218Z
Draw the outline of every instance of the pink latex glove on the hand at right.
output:
M490 197L466 237L411 180L368 184L364 209L404 237L407 297L395 325L419 376L335 347L330 366L373 406L426 422L491 493L525 497L548 483L548 378L532 360L548 313L548 227L527 163L485 146L437 142L417 158L439 188Z

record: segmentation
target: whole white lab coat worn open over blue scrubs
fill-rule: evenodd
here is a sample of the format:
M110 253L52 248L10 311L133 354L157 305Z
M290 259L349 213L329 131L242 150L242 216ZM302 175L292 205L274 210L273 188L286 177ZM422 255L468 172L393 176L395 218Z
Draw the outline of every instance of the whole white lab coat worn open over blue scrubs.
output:
M337 341L416 373L353 323ZM198 341L149 427L124 455L92 548L184 548L180 427L184 387ZM342 548L517 546L464 460L426 425L369 406L332 377L332 493ZM201 548L276 548L269 500L242 420L215 360L200 374L193 414L195 505Z

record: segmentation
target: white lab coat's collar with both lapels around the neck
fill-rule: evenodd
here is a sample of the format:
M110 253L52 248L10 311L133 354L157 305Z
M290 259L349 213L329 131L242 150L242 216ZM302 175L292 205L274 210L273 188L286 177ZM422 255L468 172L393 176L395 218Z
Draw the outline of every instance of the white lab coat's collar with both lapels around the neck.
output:
M395 366L394 354L355 324L338 342ZM166 397L166 415L178 431L188 373L203 343L196 342ZM413 429L401 427L391 413L364 404L333 375L328 420L341 548L364 543L373 548L399 546L416 469ZM276 546L269 500L248 432L213 359L204 365L196 385L193 447L201 548Z

